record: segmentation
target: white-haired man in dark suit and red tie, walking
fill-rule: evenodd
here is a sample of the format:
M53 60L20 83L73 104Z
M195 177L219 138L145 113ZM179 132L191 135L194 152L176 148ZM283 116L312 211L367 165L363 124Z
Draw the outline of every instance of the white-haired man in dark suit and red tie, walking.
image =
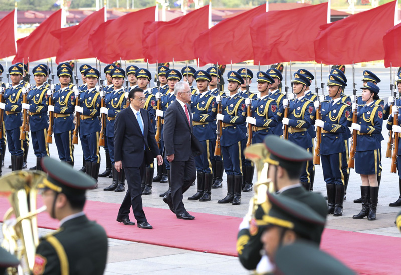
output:
M191 89L187 82L179 81L174 86L176 100L164 115L164 149L170 162L171 190L163 197L170 210L179 219L194 219L182 202L183 193L196 179L196 167L192 148L199 141L192 135ZM202 151L202 149L199 149Z

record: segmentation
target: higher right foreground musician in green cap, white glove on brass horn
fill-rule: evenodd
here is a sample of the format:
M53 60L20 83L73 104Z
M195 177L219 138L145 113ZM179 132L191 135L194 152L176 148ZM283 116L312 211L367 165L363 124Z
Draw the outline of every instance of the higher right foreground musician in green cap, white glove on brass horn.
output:
M268 150L267 156L264 156L265 162L269 164L267 177L273 180L274 191L277 191L280 196L302 202L325 220L327 205L324 198L320 194L306 191L299 182L302 168L307 161L312 159L312 154L293 142L275 135L268 135L264 143ZM258 206L255 212L256 220L262 219L262 215L266 211L264 207L263 204ZM319 246L324 224L315 229L311 240ZM263 248L261 242L263 231L258 229L254 219L249 222L246 218L240 224L239 230L238 258L246 269L253 270L262 258L260 251Z

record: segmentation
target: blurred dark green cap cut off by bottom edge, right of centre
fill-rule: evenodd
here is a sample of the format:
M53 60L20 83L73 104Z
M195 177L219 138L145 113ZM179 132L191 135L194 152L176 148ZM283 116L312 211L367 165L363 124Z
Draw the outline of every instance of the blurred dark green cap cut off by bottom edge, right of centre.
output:
M298 241L277 250L275 274L282 275L352 275L354 271L318 247Z

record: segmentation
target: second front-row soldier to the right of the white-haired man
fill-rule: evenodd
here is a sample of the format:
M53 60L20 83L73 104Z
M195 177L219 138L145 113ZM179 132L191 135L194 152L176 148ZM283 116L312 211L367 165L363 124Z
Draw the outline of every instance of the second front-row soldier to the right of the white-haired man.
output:
M241 204L242 189L241 141L246 138L239 127L245 122L245 99L238 95L238 89L244 83L244 79L236 71L230 71L227 81L230 95L216 97L216 103L222 104L222 113L217 114L216 119L222 124L220 146L227 174L227 195L218 203L238 205Z

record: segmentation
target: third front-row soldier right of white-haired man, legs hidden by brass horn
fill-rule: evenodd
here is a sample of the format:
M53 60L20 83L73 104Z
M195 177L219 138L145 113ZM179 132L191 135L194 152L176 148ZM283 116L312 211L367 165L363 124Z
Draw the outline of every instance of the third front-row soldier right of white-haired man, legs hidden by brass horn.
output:
M245 122L252 124L252 144L263 142L267 135L275 134L274 127L277 121L277 102L269 97L270 85L274 83L272 77L265 72L258 72L258 91L260 98L252 101L252 116L247 117ZM245 100L250 104L250 100ZM251 184L252 187L252 184ZM251 188L252 189L252 188Z

